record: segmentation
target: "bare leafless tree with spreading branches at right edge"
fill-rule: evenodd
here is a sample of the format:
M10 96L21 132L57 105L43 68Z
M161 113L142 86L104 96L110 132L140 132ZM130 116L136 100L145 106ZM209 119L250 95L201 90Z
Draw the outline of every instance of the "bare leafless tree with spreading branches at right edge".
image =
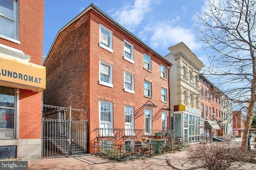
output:
M197 14L199 39L207 49L204 74L240 107L248 108L241 149L247 149L256 101L256 0L208 0Z

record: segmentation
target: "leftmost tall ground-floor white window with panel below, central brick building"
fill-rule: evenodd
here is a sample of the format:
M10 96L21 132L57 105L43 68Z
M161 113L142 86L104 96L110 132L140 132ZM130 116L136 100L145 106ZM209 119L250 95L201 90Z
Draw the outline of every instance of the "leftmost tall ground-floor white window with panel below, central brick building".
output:
M100 101L100 136L114 136L113 103Z

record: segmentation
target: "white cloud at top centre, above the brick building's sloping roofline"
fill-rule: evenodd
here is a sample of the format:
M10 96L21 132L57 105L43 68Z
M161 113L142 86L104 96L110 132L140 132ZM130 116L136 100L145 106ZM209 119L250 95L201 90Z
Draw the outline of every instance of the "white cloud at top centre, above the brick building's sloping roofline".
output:
M158 0L135 0L134 5L126 4L121 10L116 11L112 16L128 30L133 31L145 17L145 14L150 12L150 5L159 3Z

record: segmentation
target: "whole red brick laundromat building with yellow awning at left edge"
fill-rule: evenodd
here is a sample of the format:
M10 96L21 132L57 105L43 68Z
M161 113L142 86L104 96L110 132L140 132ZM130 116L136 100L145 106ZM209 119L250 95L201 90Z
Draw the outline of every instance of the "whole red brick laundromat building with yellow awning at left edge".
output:
M0 159L40 159L44 0L1 1L0 19Z

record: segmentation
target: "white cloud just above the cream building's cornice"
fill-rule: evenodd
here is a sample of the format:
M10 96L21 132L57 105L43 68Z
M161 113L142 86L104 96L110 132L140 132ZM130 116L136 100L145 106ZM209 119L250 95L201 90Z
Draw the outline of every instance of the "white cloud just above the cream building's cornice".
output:
M148 24L144 31L147 31L150 37L150 46L157 47L170 47L183 41L191 50L201 48L201 45L196 43L194 33L188 28L173 26L171 22L162 22L155 24ZM146 35L143 35L144 38Z

